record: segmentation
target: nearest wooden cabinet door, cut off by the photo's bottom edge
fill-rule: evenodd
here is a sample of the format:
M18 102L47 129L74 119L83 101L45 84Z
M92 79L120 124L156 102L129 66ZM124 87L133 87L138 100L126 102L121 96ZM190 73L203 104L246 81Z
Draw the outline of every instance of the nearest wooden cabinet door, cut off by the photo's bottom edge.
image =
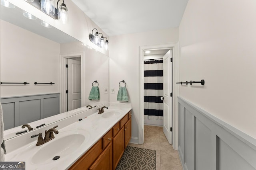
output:
M100 154L89 170L112 170L112 143Z

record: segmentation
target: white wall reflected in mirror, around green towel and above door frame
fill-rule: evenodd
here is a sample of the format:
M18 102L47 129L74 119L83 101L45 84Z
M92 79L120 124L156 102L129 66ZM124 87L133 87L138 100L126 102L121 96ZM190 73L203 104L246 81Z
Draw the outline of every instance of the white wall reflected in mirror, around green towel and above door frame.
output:
M84 54L84 59L82 59L82 65L84 66L84 76L82 81L84 81L84 103L83 106L89 105L90 100L88 99L90 90L92 88L92 82L98 81L100 90L100 100L99 102L109 102L109 57L95 51L94 49L88 49L87 47L81 45L79 42L65 43L60 45L60 54L72 56L72 54L82 52ZM96 85L94 85L96 86ZM107 88L107 91L104 89Z

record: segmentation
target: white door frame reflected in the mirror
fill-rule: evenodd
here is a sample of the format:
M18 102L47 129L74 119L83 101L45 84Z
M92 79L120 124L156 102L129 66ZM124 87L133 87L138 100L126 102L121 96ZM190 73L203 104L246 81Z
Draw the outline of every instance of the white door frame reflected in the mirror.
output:
M67 98L66 98L66 87L67 87L67 76L66 76L66 59L81 57L81 107L85 106L85 96L84 96L84 86L85 80L84 77L84 52L77 53L66 53L60 54L60 113L66 111L67 108Z

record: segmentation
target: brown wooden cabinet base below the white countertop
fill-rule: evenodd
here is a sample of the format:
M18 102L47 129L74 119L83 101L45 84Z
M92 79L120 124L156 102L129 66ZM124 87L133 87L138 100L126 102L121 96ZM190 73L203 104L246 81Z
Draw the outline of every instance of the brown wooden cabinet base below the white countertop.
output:
M131 116L130 111L69 170L115 170L132 137Z

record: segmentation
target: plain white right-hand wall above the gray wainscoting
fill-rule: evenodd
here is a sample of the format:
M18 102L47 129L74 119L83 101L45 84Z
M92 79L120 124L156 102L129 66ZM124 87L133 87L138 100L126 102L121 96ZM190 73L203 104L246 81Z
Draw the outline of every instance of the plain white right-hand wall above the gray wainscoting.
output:
M256 1L189 0L179 27L180 96L256 138Z

